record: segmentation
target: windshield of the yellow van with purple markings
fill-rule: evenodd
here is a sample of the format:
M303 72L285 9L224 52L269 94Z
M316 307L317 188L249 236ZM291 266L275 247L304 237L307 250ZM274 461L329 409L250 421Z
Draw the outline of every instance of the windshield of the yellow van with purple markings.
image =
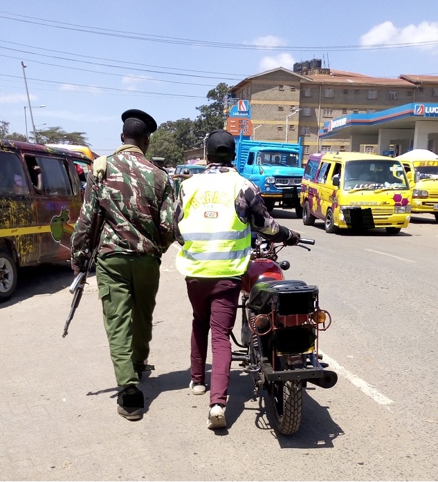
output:
M399 161L358 160L345 163L343 189L409 189Z

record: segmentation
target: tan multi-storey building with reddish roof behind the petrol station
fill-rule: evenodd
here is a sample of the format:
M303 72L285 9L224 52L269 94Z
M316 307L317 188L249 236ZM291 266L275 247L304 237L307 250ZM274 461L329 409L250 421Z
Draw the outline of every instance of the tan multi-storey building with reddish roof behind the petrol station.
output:
M322 68L319 59L295 64L293 71L276 68L247 77L230 90L225 112L237 100L250 102L253 138L298 142L304 162L318 151L349 151L349 139L318 139L331 118L374 113L411 102L438 102L438 76L400 75L397 79ZM363 144L361 151L375 152Z

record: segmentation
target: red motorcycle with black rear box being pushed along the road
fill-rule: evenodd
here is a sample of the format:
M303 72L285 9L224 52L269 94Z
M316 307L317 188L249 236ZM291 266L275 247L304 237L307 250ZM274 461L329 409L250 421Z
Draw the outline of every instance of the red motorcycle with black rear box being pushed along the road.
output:
M315 244L300 239L297 246ZM278 262L284 245L267 242L259 235L253 242L248 270L241 287L241 350L232 351L254 383L268 392L275 429L291 435L302 417L302 391L307 383L322 388L336 385L338 376L327 370L318 353L319 332L331 325L328 311L321 309L319 290L300 280L285 280L289 261Z

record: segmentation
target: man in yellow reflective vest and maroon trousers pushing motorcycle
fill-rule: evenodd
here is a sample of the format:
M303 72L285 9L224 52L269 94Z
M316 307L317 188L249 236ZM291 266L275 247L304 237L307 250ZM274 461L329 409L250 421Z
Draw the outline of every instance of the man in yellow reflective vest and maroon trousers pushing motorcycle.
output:
M182 182L175 210L175 235L182 245L176 267L185 275L193 309L190 389L196 395L206 393L211 328L210 429L226 426L230 332L250 260L251 229L272 242L292 246L300 240L271 218L257 186L232 166L234 158L234 137L223 130L210 133L206 171Z

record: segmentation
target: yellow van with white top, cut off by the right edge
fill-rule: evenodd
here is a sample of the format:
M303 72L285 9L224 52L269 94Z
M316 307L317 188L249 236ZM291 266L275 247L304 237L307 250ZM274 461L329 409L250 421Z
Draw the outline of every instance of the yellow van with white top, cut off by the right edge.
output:
M412 173L412 213L433 214L438 221L438 155L414 149L395 157L407 173Z

